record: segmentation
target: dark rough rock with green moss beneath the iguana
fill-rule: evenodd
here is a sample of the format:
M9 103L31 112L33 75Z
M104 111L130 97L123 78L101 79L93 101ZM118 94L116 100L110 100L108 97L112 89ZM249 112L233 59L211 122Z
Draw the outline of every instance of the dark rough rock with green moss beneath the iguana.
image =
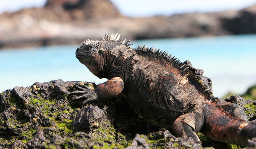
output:
M121 97L84 107L82 101L69 101L67 96L76 85L96 88L94 83L53 80L2 92L0 149L201 148L192 139L164 141L164 129L137 115ZM218 148L219 142L200 137L204 148Z

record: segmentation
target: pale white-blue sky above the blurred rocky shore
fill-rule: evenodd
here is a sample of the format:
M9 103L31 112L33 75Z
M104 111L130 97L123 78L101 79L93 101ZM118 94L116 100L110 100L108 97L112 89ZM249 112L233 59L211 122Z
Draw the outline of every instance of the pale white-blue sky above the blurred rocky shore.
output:
M129 17L172 15L186 12L239 10L256 4L256 0L111 0L119 11ZM0 14L22 8L42 7L46 0L0 0Z

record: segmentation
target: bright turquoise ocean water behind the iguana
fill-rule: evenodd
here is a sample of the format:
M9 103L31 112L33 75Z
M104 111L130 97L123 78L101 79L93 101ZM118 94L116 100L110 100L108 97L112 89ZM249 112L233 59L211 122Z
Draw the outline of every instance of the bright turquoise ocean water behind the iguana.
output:
M99 38L100 39L100 38ZM82 42L82 40L81 40ZM137 45L154 46L182 62L190 60L212 79L213 94L238 95L256 84L256 34L179 39L135 40ZM0 50L0 92L35 82L64 81L105 82L75 57L79 45L44 46Z

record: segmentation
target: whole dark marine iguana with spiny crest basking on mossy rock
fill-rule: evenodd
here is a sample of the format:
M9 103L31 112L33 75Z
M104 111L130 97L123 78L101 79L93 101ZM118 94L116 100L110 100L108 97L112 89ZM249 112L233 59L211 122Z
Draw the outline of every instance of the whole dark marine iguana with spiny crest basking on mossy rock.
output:
M197 132L212 140L246 144L256 137L256 120L231 116L212 101L209 91L176 57L153 47L137 46L111 34L103 40L85 40L76 50L76 58L99 78L107 78L96 89L75 86L72 100L108 99L123 94L143 118L178 137L192 137L201 143ZM74 97L74 95L76 95Z

